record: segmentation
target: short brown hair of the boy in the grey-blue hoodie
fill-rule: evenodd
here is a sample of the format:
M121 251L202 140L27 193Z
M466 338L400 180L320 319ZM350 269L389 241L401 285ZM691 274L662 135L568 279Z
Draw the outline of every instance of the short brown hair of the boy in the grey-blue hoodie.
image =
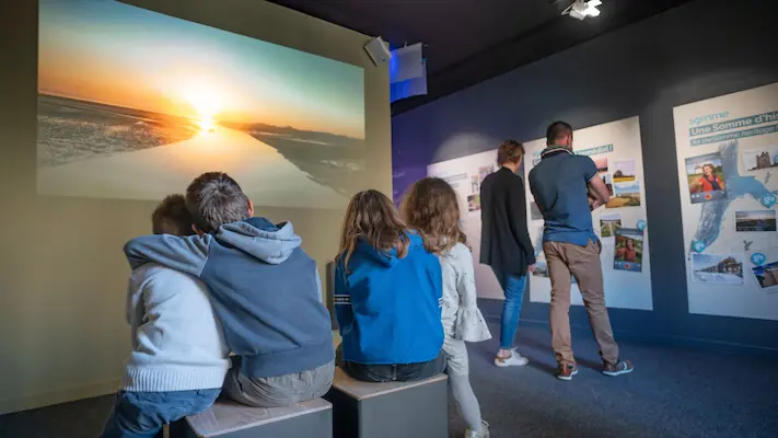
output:
M186 188L186 206L198 230L209 233L224 223L248 219L248 197L223 172L207 172Z

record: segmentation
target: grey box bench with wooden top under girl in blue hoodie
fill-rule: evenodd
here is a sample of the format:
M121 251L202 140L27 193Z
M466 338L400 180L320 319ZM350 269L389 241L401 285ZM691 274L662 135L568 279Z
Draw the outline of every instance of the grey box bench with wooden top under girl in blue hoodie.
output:
M448 377L416 382L368 383L335 369L333 404L336 438L448 438Z

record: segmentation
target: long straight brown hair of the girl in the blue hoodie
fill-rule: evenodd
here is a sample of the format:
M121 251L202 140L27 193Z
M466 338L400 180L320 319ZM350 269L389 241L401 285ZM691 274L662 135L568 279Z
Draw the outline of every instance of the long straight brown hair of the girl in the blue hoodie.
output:
M346 209L338 250L346 272L348 260L360 239L379 251L396 250L399 258L408 254L408 227L399 218L392 200L381 192L360 192L353 195Z

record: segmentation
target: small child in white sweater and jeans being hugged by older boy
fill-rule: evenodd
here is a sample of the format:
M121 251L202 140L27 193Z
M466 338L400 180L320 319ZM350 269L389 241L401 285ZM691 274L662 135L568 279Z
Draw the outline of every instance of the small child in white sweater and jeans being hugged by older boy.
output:
M183 195L152 215L155 234L193 234ZM153 438L164 424L207 410L230 368L229 349L197 278L158 264L132 270L127 293L130 354L103 438Z

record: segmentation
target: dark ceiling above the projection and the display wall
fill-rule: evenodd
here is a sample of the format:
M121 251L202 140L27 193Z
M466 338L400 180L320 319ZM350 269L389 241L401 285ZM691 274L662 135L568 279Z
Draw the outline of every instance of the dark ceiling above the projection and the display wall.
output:
M270 1L393 48L426 44L429 94L395 102L396 115L690 0L603 0L584 21L560 15L572 0Z

